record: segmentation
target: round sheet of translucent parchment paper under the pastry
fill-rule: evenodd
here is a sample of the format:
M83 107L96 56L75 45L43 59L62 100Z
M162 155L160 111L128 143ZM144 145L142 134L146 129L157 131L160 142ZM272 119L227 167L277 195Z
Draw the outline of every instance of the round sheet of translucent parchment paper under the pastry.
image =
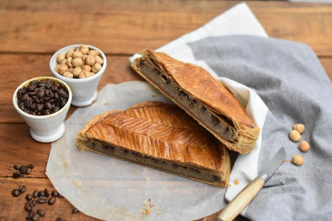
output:
M146 82L108 84L99 92L96 103L77 109L65 121L66 132L52 143L46 167L56 190L81 212L102 220L188 221L219 211L226 205L225 188L78 151L75 137L90 119L143 101L172 103ZM149 215L139 213L143 201L155 205Z

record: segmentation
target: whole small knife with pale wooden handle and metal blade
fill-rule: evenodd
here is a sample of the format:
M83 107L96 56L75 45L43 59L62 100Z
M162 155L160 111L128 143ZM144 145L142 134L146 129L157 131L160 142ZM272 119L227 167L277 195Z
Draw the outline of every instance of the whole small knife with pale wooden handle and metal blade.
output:
M232 221L235 217L251 202L258 194L264 184L270 179L272 174L284 162L286 150L284 147L274 155L274 157L265 164L261 173L253 181L251 181L240 193L238 193L232 201L217 216L218 221Z

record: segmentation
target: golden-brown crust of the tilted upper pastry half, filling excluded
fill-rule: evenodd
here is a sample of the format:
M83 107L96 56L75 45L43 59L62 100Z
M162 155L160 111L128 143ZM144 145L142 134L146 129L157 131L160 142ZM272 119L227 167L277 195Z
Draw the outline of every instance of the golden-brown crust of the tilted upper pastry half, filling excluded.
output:
M202 101L212 111L226 116L234 124L237 135L232 142L228 142L223 137L208 128L205 122L200 121L176 100L165 93L159 85L151 82L140 70L141 62L153 61L172 81L176 82L184 91L192 97ZM147 81L157 87L164 95L172 99L178 106L183 108L195 120L199 121L216 138L222 141L229 149L241 154L250 152L256 144L260 128L254 120L250 118L242 104L231 94L225 86L214 79L205 69L194 64L178 61L164 52L155 52L150 49L142 51L142 57L136 58L131 67L144 77Z

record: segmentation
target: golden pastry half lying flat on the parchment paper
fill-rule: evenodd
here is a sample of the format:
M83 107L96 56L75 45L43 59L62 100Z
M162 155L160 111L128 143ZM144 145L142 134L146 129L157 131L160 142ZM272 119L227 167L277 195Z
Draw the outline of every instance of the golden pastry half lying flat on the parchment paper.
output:
M225 146L175 104L144 102L94 117L77 135L79 150L226 187Z

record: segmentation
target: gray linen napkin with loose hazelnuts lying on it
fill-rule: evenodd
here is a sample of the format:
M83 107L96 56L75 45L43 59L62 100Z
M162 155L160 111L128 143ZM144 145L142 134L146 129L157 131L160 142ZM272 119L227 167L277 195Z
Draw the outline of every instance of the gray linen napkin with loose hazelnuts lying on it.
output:
M258 172L284 146L286 159L304 157L296 166L284 162L249 204L255 221L332 220L332 87L315 53L293 41L231 35L207 37L188 44L220 77L254 89L269 108L262 129ZM289 139L303 123L306 153Z

